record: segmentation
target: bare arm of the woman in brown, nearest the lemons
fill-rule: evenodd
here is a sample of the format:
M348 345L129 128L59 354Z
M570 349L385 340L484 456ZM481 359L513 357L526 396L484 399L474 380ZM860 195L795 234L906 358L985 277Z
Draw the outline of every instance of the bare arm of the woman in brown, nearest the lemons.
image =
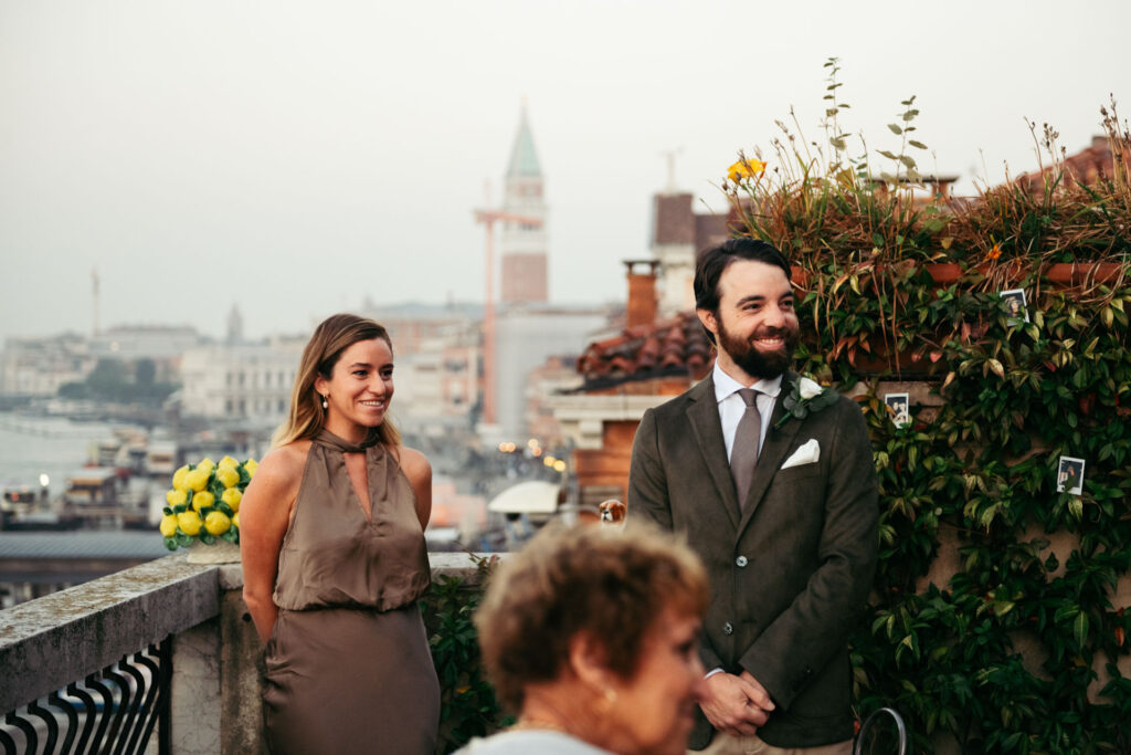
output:
M302 481L309 441L276 448L264 457L240 501L240 559L243 561L243 602L266 644L278 609L271 594L278 575L279 550Z

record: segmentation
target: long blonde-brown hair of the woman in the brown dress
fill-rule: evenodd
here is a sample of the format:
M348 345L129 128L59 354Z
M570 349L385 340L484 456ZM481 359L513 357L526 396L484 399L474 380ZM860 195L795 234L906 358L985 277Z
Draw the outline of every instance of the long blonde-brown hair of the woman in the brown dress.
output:
M294 378L291 391L291 412L286 422L279 426L271 438L271 447L285 446L295 440L313 438L322 430L325 412L322 397L314 391L314 379L321 376L329 380L334 375L334 366L338 363L342 352L359 341L381 338L392 352L392 341L389 332L371 319L356 315L334 315L326 318L314 328L314 334L302 350L302 361L299 374ZM385 446L399 446L400 432L386 417L385 421L370 434L377 434L378 440Z

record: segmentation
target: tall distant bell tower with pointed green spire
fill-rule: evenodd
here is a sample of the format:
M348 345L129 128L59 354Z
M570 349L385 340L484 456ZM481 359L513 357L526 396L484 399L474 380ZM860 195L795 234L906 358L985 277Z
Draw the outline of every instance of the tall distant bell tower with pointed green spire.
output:
M549 254L546 244L545 179L534 149L534 137L523 108L518 135L507 166L502 209L535 218L537 223L504 221L499 234L502 259L502 303L545 302L550 300Z

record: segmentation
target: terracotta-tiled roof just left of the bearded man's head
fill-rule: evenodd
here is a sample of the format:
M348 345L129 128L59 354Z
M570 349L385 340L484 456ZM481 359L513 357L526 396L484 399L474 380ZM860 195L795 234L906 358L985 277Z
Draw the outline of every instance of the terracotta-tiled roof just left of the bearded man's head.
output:
M699 318L681 312L590 343L577 360L577 370L587 385L615 385L671 375L700 379L713 363L711 343Z

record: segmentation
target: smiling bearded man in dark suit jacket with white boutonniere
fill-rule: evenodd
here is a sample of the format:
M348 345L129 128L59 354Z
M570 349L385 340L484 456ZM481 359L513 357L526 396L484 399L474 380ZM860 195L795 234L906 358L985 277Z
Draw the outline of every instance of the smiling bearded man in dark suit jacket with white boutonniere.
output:
M707 694L689 745L851 753L847 636L871 587L879 513L867 428L855 402L789 369L797 314L775 247L703 250L694 292L714 371L645 412L629 475L629 526L687 533L711 581Z

